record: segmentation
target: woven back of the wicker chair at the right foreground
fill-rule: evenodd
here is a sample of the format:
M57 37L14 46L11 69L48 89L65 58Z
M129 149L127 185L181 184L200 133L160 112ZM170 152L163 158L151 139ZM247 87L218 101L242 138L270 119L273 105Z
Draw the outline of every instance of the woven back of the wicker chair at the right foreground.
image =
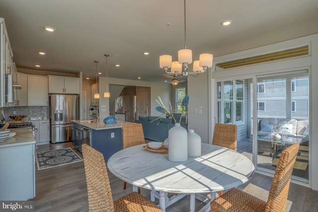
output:
M282 151L269 190L266 212L286 212L289 184L298 149L299 144L294 143Z

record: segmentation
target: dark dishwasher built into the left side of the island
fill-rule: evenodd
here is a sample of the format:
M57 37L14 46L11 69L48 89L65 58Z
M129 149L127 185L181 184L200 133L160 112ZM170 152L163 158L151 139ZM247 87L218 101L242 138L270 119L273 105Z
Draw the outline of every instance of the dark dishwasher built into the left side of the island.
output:
M72 123L72 144L81 152L81 145L86 143L90 145L89 128Z

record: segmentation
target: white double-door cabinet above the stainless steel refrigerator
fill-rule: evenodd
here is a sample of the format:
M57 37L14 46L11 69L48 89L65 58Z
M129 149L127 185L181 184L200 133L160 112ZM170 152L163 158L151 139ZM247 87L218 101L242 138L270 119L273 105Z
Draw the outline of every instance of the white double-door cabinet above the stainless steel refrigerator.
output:
M49 93L79 94L79 78L49 75Z

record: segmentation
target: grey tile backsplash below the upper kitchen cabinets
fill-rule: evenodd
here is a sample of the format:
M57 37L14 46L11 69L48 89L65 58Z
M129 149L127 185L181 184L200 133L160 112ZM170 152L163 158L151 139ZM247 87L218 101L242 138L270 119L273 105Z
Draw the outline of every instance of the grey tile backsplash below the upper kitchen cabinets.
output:
M47 106L25 106L25 107L3 107L5 121L11 121L9 116L26 115L24 120L49 119L49 107ZM16 114L14 114L14 111Z

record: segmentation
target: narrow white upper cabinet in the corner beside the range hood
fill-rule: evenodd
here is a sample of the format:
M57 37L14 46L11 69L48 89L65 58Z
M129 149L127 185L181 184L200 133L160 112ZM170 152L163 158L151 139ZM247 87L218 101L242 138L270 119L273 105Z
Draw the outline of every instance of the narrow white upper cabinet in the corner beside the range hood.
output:
M16 90L15 105L28 105L28 75L24 73L17 73L17 82L21 85L21 89Z

